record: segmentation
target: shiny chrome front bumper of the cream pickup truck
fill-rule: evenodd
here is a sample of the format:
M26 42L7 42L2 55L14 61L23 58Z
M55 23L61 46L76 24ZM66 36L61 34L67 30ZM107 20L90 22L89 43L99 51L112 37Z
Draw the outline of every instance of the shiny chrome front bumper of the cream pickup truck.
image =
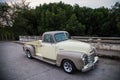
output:
M87 65L85 65L82 68L82 72L86 72L86 71L91 70L97 62L98 62L98 56L95 56L94 57L94 62L93 63L88 63Z

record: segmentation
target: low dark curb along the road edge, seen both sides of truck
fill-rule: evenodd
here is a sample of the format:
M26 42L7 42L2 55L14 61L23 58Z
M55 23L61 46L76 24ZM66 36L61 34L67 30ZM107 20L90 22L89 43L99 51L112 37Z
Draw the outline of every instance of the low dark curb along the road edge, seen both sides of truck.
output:
M20 42L20 41L13 41L14 43L23 45L24 42ZM105 54L101 54L100 52L97 52L97 55L101 58L107 58L107 59L112 59L112 60L120 60L120 56L116 56L116 55L105 55Z

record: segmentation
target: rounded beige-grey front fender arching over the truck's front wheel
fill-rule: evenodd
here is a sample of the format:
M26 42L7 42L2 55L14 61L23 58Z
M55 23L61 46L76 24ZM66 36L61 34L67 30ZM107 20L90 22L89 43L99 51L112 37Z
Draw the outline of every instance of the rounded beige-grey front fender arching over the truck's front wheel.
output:
M84 66L84 62L82 61L83 53L79 52L72 52L72 51L60 51L57 55L57 61L56 64L57 66L61 66L63 60L70 60L74 63L75 67L78 70L81 70Z

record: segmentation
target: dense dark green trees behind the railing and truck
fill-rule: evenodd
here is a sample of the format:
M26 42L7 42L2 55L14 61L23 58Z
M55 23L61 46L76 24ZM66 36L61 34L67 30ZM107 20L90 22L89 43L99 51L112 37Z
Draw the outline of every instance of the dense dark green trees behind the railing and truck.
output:
M104 7L92 9L80 7L78 4L71 6L63 2L39 5L35 9L31 9L29 3L26 4L24 0L13 6L0 3L0 15L9 10L13 12L12 27L10 30L6 29L8 30L6 32L14 32L12 34L16 37L42 35L43 32L52 30L66 30L71 35L77 36L120 36L119 2L111 9ZM2 23L0 27L3 27Z

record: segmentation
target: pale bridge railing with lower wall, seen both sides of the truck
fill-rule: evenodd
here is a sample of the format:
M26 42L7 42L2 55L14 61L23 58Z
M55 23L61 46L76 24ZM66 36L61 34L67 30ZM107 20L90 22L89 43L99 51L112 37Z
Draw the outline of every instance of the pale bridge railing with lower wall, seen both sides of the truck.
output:
M71 36L74 40L87 42L98 49L117 50L120 51L120 37L83 37ZM19 36L19 41L40 40L41 36Z

